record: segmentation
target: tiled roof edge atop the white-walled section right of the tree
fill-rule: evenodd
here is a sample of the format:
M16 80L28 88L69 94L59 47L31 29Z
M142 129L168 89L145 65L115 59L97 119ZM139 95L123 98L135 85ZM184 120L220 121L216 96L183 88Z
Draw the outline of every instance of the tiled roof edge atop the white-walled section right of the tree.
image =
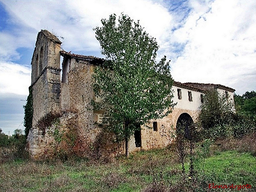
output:
M173 85L181 86L184 88L192 89L199 92L205 92L211 89L223 89L230 92L235 92L236 90L221 84L204 84L204 83L180 83L180 82L174 82Z

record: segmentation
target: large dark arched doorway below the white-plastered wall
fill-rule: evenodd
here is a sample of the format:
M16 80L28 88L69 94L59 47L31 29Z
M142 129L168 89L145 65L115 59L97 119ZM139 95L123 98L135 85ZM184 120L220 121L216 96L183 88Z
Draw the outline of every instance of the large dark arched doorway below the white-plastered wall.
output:
M176 124L177 137L180 135L184 136L185 139L191 140L191 130L194 129L194 121L188 113L182 113Z

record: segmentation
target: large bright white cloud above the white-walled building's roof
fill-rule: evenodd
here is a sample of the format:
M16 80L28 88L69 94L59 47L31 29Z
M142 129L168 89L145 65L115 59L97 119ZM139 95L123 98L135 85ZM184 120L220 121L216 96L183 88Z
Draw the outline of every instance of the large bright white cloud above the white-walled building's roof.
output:
M216 0L209 5L194 3L186 24L172 34L187 43L172 65L174 79L224 84L239 94L246 91L240 88L243 84L255 89L256 2Z

